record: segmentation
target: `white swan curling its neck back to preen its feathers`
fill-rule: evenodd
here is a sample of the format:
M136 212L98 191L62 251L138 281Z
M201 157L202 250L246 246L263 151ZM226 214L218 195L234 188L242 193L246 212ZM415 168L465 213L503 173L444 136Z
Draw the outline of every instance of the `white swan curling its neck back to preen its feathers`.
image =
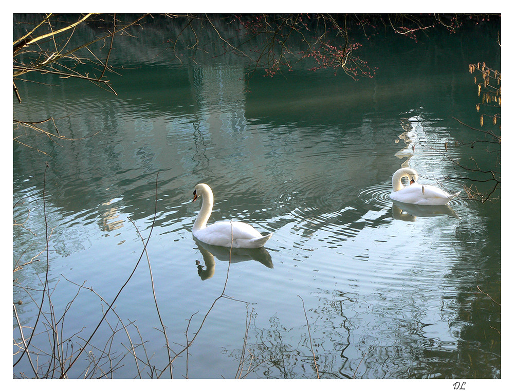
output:
M401 179L407 177L409 185L403 186ZM461 192L450 195L432 185L422 185L417 182L418 174L410 167L402 167L393 174L393 192L391 199L421 206L443 206Z

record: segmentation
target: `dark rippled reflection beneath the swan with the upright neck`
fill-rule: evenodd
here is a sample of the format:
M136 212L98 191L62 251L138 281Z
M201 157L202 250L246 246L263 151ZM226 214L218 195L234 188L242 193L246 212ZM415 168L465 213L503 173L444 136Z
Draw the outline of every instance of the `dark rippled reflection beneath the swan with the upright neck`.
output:
M204 266L200 264L199 260L196 260L196 265L198 267L198 276L200 276L201 280L205 281L206 279L210 279L214 275L214 268L216 266L215 258L219 261L228 261L230 263L240 263L246 262L248 260L256 260L261 264L264 264L268 268L273 268L273 262L271 261L271 255L264 248L232 248L232 252L230 248L215 246L205 244L205 242L199 241L197 238L194 238L196 245L198 246L198 250L204 258Z

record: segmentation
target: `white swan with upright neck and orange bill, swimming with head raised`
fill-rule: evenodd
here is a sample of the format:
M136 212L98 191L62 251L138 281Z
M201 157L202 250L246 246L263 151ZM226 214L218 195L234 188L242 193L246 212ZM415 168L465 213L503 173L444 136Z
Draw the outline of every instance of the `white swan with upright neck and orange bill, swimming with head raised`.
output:
M262 235L248 223L238 221L219 221L207 226L211 216L214 198L207 184L198 184L193 191L193 202L200 197L201 208L193 224L193 235L209 245L227 248L260 248L271 238L272 233Z

